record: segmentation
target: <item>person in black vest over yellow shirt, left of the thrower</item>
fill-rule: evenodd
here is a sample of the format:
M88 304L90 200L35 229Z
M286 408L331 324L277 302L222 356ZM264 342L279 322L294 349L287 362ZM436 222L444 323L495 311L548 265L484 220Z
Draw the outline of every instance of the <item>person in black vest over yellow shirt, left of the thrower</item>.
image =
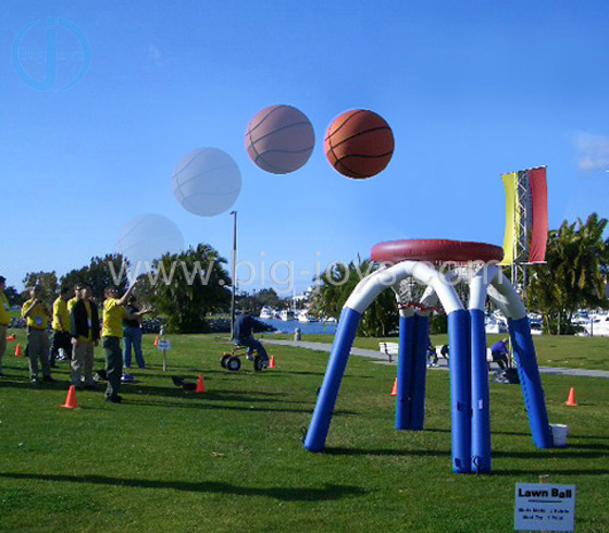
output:
M99 345L99 312L91 299L91 289L87 285L83 285L78 301L72 307L70 334L74 345L72 385L92 389L95 388L94 351Z

